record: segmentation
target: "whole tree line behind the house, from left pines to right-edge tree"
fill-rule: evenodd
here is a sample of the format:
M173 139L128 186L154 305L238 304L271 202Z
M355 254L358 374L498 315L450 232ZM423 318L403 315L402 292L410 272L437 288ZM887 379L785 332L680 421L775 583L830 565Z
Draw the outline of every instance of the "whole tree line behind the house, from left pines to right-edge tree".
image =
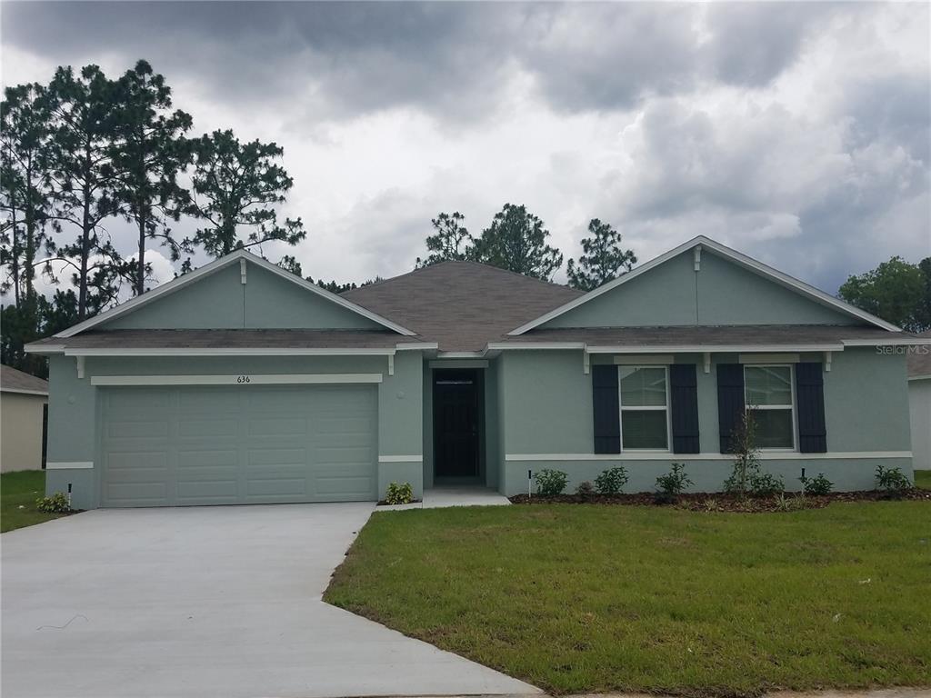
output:
M0 316L3 363L46 375L45 360L26 356L23 345L100 313L124 289L142 294L152 281L146 246L153 242L184 274L198 249L218 258L304 240L303 221L278 213L293 187L283 148L240 141L231 129L196 136L193 128L192 115L175 108L164 76L145 60L116 78L96 65L68 66L48 83L7 87L0 102L0 291L12 304ZM182 219L195 221L193 234L174 233ZM115 221L133 231L128 255L108 231ZM431 223L427 255L415 268L464 260L551 281L564 262L544 222L522 205L505 204L479 235L459 211ZM596 289L637 262L621 234L597 218L581 247L566 264L575 289ZM294 256L277 263L303 276ZM70 282L62 288L61 270ZM56 287L48 298L36 290L40 276ZM334 293L356 288L316 283ZM905 329L929 329L931 258L911 264L894 257L850 276L838 295Z

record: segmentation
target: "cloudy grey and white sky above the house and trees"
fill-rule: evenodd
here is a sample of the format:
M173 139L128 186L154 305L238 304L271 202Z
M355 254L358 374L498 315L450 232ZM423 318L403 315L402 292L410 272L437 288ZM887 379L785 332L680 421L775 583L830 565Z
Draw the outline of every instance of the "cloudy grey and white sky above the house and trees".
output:
M439 211L479 234L506 202L567 259L598 217L641 262L704 234L830 292L931 254L926 3L0 12L5 85L145 58L196 132L282 145L305 275L409 271Z

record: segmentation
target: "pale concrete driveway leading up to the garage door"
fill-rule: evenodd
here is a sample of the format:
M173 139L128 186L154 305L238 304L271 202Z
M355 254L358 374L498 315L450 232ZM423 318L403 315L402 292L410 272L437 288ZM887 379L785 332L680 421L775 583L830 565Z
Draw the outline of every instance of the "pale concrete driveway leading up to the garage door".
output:
M4 698L535 692L320 600L371 511L112 509L4 533Z

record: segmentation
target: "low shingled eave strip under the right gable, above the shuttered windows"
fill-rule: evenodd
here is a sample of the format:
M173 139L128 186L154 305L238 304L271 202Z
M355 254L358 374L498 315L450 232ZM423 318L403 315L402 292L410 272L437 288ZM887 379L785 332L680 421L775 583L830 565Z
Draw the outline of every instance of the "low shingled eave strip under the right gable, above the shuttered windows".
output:
M630 350L668 348L669 351L722 351L722 347L785 347L795 351L840 350L844 345L919 341L908 332L856 325L735 325L728 327L682 326L668 328L566 328L533 329L510 335L492 348L519 347L535 343L583 343L587 346Z

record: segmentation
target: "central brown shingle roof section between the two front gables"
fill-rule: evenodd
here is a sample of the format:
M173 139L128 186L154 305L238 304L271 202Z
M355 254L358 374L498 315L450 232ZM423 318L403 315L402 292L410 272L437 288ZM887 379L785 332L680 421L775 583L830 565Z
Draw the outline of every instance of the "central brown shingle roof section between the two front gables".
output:
M415 330L440 351L476 352L582 291L479 262L439 262L343 293Z

